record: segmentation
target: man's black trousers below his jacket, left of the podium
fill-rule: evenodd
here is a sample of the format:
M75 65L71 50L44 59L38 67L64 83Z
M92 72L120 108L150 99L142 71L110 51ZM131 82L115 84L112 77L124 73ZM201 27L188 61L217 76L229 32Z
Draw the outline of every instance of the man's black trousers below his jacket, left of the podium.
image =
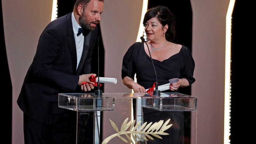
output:
M43 124L23 113L25 144L75 144L76 115L66 113L54 124Z

